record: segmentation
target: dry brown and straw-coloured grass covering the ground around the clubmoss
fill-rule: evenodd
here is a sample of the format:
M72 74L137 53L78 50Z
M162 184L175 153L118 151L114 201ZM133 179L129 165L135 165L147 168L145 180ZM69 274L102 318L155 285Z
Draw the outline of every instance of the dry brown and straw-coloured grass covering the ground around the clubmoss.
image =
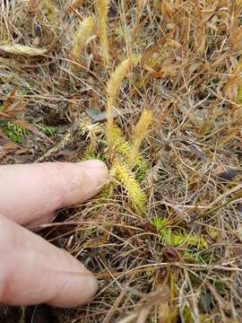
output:
M99 277L95 299L58 310L59 321L241 321L242 2L110 1L108 39L102 48L99 35L87 39L82 64L72 58L73 34L95 17L94 1L6 0L1 11L1 163L99 156L111 166L107 84L131 55L142 58L114 110L123 144L144 108L154 115L140 150L145 170L134 169L146 213L117 183L45 232ZM33 57L6 44L45 50ZM165 244L154 218L186 239Z

